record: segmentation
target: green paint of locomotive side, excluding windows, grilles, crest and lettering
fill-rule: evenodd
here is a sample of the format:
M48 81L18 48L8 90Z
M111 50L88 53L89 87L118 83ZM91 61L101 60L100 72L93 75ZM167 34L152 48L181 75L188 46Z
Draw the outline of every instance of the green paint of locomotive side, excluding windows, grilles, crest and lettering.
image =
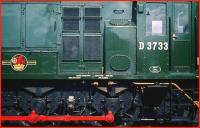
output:
M15 54L21 53L28 60L37 61L37 65L28 65L22 72L14 71L10 65L3 65L3 78L70 79L81 74L88 75L81 79L101 79L98 75L103 75L103 79L196 78L195 51L198 50L195 41L198 40L195 39L197 25L194 19L197 17L198 4L182 3L188 6L189 16L189 33L182 34L175 30L175 3L158 4L166 6L166 28L162 36L146 34L146 28L149 27L146 24L149 16L146 2L3 3L2 60L9 61ZM79 8L79 31L63 32L63 9L73 7ZM137 7L139 10L135 10ZM85 8L100 8L99 33L85 32ZM115 14L114 10L124 10L124 13ZM115 26L109 23L112 19L123 19L120 22L130 23ZM172 39L173 34L177 36L176 40ZM78 36L77 60L63 60L63 35ZM86 36L100 37L100 59L85 60ZM144 43L144 49L139 50L139 42ZM158 50L156 47L148 50L148 42L167 42L168 49Z

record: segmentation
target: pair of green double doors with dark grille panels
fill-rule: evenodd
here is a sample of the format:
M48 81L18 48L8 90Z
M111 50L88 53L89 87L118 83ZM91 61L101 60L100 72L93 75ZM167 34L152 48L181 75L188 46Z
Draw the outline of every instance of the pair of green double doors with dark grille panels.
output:
M62 6L60 73L102 73L100 6Z

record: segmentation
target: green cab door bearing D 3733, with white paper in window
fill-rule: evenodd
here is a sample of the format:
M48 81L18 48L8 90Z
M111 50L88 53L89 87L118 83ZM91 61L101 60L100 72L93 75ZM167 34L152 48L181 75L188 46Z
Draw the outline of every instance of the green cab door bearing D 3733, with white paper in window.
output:
M137 73L169 71L169 4L139 2L137 10Z

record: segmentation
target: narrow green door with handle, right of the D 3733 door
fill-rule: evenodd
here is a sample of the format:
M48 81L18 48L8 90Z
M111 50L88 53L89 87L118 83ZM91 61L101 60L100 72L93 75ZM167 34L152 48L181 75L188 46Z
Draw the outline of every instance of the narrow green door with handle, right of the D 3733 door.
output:
M189 72L192 63L191 2L172 3L171 71Z

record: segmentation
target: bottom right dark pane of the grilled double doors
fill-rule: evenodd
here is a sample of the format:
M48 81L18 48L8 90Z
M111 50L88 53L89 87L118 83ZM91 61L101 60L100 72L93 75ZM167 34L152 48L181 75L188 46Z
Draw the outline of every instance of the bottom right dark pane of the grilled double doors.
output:
M100 60L100 36L85 36L85 60Z

